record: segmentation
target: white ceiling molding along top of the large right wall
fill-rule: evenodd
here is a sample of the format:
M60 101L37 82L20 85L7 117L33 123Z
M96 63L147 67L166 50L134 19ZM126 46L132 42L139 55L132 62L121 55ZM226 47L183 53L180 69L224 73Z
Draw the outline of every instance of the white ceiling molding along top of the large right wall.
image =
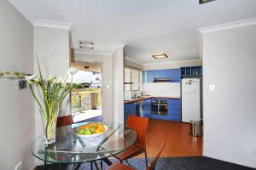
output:
M214 32L214 31L223 31L223 30L228 30L231 28L238 28L241 26L252 26L256 25L256 18L251 18L248 20L238 20L235 22L229 22L229 23L224 23L221 25L217 26L209 26L206 28L200 28L198 31L201 31L202 34L204 33L209 33L209 32Z

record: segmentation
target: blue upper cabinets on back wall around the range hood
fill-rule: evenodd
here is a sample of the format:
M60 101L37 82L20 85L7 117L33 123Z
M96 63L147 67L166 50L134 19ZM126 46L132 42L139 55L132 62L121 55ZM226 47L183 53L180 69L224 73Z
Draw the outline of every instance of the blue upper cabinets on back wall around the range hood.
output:
M180 69L143 71L143 82L154 82L154 78L170 78L170 82L181 81Z

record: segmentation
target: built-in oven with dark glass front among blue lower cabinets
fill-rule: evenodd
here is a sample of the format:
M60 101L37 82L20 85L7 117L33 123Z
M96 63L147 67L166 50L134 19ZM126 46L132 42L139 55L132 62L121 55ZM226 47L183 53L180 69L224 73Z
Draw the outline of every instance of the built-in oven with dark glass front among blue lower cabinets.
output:
M168 116L168 101L165 99L152 99L151 114Z

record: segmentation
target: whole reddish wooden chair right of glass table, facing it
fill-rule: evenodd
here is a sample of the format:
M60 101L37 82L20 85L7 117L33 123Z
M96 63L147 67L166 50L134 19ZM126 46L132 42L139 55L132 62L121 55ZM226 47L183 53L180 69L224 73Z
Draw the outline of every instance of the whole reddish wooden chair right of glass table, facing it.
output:
M148 165L147 150L145 144L148 118L129 115L126 126L132 127L135 130L137 133L137 140L135 144L131 145L130 148L119 153L118 155L115 155L114 157L116 157L122 163L124 160L144 153L146 165Z

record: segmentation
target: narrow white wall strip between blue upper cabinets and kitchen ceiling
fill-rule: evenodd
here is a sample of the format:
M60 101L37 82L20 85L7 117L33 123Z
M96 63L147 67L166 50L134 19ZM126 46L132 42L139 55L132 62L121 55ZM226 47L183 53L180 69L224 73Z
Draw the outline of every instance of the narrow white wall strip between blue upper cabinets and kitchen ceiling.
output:
M170 62L143 64L143 71L161 70L161 69L177 69L183 66L196 66L196 65L202 65L201 59L186 59L186 60L177 60L177 61L174 60Z

